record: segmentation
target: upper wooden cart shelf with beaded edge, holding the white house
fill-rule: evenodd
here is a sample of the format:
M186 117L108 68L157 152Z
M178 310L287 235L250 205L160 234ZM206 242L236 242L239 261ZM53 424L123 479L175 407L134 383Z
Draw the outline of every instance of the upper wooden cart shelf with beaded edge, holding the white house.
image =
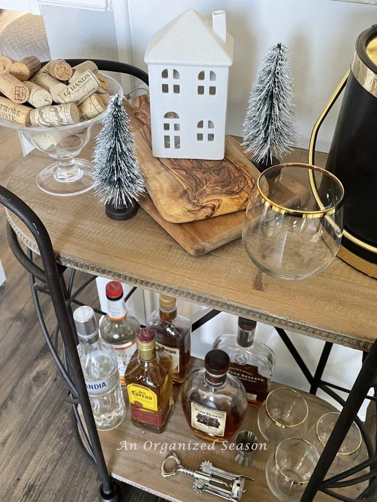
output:
M92 146L81 157L90 159ZM306 158L305 150L296 149L288 161ZM317 154L316 162L325 159ZM284 281L259 271L241 239L191 256L142 209L132 220L116 222L91 191L74 197L43 193L35 178L49 162L36 150L17 158L7 186L41 218L62 265L358 349L368 350L375 340L377 280L339 258L315 277ZM14 215L8 219L38 252L26 227Z

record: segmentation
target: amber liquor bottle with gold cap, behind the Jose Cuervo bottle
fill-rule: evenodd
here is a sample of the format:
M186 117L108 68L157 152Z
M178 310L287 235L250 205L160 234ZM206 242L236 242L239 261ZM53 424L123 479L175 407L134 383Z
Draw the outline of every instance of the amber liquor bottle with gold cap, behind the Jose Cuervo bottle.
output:
M173 383L181 384L190 370L190 319L177 315L175 298L160 295L159 308L152 312L147 327L156 333L156 347L173 360Z

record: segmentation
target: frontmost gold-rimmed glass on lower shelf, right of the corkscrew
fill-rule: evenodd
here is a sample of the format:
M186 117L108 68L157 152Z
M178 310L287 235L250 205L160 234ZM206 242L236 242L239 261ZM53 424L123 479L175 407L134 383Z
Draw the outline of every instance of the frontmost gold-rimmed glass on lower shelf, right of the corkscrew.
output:
M282 502L298 502L319 460L315 446L306 439L281 441L266 464L266 481Z

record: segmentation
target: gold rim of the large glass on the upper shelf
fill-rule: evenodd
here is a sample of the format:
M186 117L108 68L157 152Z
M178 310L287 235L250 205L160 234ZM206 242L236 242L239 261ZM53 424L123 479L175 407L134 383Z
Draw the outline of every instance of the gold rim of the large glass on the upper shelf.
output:
M305 168L308 169L309 172L311 171L318 171L322 173L324 176L328 176L329 178L332 178L341 188L342 195L340 199L336 202L336 204L333 204L331 207L328 208L323 208L323 209L318 209L316 211L301 211L300 209L291 209L290 207L282 206L281 204L277 204L276 202L273 202L271 199L269 199L262 191L260 187L260 182L261 180L265 177L266 173L268 171L271 171L273 169L278 169L278 168L284 168L284 167L300 167L300 168ZM312 166L311 164L304 164L302 162L289 162L286 164L278 164L277 166L271 166L267 168L263 173L260 174L256 186L258 189L258 192L261 196L262 203L265 204L266 206L270 207L274 211L281 213L281 214L288 214L289 216L298 216L300 218L320 218L321 216L324 216L326 214L333 214L338 207L340 207L343 204L343 199L344 199L344 188L342 183L338 180L338 178L330 173L329 171L326 171L326 169L323 169L322 167L318 166Z

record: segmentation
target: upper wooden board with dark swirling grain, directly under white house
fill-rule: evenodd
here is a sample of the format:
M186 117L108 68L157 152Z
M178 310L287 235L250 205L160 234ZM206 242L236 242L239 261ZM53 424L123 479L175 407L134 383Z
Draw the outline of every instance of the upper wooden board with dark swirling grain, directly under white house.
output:
M227 137L222 161L158 159L149 126L135 133L137 157L160 215L185 223L245 209L259 173Z

